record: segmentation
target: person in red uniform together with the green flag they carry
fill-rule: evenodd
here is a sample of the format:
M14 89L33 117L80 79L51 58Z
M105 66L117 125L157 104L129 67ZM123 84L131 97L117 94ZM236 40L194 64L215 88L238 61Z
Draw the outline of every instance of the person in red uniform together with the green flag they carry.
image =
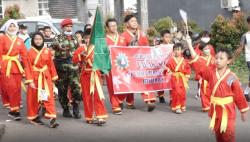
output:
M87 47L81 46L77 48L72 61L74 64L82 64L80 82L86 123L94 124L95 114L97 125L102 126L106 123L108 115L104 103L101 72L109 72L110 60L101 13L98 7L96 9L90 44Z

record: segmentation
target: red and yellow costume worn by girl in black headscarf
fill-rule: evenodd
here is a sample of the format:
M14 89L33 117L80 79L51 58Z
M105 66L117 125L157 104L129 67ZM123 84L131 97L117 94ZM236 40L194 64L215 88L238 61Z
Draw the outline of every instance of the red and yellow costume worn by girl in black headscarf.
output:
M32 47L28 52L29 66L32 80L36 88L28 87L27 92L27 117L33 120L38 116L41 103L46 109L46 118L56 118L55 100L53 94L53 81L58 79L52 54L49 49L42 48L40 51ZM48 100L41 100L41 90L45 90Z

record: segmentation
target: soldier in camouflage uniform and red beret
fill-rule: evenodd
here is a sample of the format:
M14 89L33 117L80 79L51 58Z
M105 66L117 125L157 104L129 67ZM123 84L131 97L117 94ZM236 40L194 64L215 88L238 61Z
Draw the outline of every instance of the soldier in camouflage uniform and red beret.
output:
M76 40L72 34L73 22L71 19L65 19L61 23L63 33L57 36L55 50L55 65L59 80L56 82L58 88L59 102L63 108L64 117L80 118L79 103L81 100L79 86L78 66L73 65L72 56L76 50ZM71 88L73 116L69 111L68 87Z

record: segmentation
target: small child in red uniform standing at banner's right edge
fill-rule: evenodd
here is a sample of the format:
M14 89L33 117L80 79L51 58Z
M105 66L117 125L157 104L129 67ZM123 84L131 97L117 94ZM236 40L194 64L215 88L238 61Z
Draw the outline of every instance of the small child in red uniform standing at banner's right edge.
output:
M183 45L176 43L173 46L173 57L167 62L167 72L171 72L171 109L177 114L186 111L186 89L188 88L188 78L191 68L186 59L182 56Z

